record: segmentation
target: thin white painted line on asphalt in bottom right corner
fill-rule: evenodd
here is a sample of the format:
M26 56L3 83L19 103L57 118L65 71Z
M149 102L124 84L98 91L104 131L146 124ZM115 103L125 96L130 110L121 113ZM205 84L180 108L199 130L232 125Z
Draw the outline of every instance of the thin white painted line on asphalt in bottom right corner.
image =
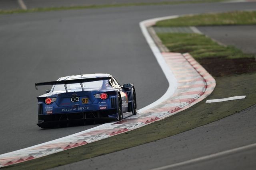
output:
M196 162L200 162L200 161L205 161L205 160L210 160L210 159L213 159L213 158L218 158L220 156L226 156L228 154L234 154L236 152L240 152L240 151L246 150L246 149L251 149L251 148L254 148L254 147L256 147L256 143L253 143L251 145L246 145L246 146L243 146L243 147L230 149L230 150L225 150L225 151L222 151L222 152L218 152L218 153L214 153L214 154L210 154L210 155L206 155L206 156L202 156L202 157L195 158L195 159L186 160L184 162L179 162L179 163L176 163L176 164L170 164L170 165L154 168L154 169L151 169L151 170L165 170L165 169L168 169L168 168L184 166L184 165L188 165L188 164L192 164L192 163L196 163Z

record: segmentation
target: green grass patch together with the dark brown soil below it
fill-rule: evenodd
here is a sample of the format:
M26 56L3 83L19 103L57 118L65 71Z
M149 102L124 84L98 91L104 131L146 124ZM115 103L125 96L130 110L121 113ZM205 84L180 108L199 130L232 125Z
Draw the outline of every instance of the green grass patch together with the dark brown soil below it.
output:
M190 53L213 76L256 72L254 54L245 54L232 46L222 46L196 33L158 33L172 52Z

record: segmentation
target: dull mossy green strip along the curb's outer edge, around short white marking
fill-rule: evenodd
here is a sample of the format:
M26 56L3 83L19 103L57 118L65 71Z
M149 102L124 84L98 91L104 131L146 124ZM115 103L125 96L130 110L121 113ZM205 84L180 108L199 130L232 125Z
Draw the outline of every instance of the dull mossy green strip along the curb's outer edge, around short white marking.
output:
M176 115L81 147L7 166L3 170L48 169L135 147L211 123L255 104L255 80L256 73L218 77L216 78L217 86L208 98ZM229 85L227 86L227 84ZM208 99L230 97L230 94L233 96L246 95L246 98L221 103L205 103Z

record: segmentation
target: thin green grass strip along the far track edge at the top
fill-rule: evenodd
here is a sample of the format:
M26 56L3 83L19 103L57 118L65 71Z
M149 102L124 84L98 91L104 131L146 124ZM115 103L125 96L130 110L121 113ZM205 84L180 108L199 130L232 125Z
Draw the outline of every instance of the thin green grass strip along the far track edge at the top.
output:
M0 14L15 14L15 13L27 13L27 12L47 12L47 11L59 11L59 10L82 10L82 9L96 9L96 8L126 7L126 6L193 4L193 3L209 3L209 2L222 2L222 1L225 1L225 0L187 0L187 1L156 2L156 3L129 3L129 4L103 4L103 5L87 5L87 6L62 6L62 7L32 8L32 9L28 9L28 10L21 10L21 9L0 10Z

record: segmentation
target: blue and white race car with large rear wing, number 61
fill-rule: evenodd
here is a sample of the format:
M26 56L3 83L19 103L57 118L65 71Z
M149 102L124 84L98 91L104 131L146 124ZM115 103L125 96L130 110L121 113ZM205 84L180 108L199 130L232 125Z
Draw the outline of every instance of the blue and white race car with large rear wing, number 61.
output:
M110 74L66 76L38 99L38 123L42 128L88 120L117 121L137 113L136 93L132 84L120 84Z

